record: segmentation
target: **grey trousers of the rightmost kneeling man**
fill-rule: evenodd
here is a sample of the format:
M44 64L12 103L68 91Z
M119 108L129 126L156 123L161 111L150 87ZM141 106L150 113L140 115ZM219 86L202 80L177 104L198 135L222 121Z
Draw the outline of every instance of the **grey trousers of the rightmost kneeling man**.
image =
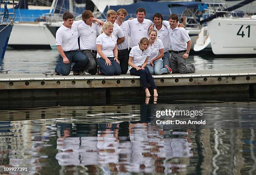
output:
M194 73L195 67L187 65L187 59L184 59L182 55L185 52L174 53L172 52L170 65L172 68L172 73Z

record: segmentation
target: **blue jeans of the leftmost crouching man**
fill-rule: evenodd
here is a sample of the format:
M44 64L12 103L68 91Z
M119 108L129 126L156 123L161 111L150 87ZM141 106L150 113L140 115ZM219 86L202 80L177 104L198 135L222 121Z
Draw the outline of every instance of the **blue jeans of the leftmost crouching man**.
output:
M69 59L69 64L65 64L63 62L63 58L61 57L61 55L59 55L59 62L55 67L55 72L57 72L58 74L61 74L64 76L69 75L72 62L75 63L72 68L74 72L79 72L83 70L84 66L87 65L87 62L88 62L87 56L84 55L79 50L73 50L73 51L68 51L64 53L66 57Z

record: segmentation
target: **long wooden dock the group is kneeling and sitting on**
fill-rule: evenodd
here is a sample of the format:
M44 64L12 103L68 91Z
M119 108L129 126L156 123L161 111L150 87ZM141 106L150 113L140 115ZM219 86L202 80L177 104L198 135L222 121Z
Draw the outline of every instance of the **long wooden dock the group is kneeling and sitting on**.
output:
M193 74L154 75L159 94L229 93L254 95L255 69L207 69ZM47 76L0 74L0 99L143 95L138 76Z

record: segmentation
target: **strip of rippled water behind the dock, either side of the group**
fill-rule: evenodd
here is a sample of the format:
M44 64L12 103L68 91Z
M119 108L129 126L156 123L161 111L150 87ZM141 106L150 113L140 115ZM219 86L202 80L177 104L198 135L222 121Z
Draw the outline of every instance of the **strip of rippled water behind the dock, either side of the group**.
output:
M194 53L195 54L195 53ZM58 60L57 50L7 50L2 70L10 73L42 73L53 72ZM195 62L197 69L218 69L228 67L256 68L256 56L217 56L212 52L190 54L188 64Z

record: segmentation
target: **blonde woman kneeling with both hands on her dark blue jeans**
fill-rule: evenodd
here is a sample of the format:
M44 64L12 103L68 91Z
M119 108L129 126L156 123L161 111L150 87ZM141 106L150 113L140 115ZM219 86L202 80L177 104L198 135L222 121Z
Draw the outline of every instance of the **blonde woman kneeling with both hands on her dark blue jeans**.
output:
M120 75L121 67L118 60L118 49L113 32L113 24L105 22L96 40L97 63L99 75Z

